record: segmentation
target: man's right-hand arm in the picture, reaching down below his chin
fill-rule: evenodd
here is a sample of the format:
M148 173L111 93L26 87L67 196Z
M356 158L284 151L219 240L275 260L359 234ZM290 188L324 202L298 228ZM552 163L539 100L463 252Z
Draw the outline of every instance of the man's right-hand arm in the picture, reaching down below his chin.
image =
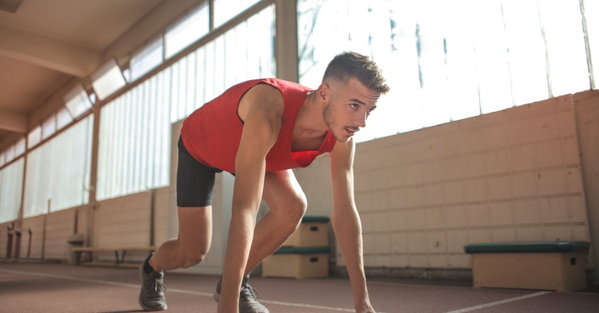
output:
M355 142L337 142L329 154L333 188L332 225L352 282L356 312L374 312L370 305L362 257L362 225L353 198Z

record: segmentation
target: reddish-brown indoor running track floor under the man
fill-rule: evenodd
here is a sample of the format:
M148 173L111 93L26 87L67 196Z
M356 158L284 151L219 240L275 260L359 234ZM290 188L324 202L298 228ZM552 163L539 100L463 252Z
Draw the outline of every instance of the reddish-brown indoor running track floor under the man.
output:
M167 273L167 312L216 312L218 276ZM271 312L353 312L349 281L250 279ZM141 312L137 269L0 263L0 312ZM599 294L368 282L377 312L599 312Z

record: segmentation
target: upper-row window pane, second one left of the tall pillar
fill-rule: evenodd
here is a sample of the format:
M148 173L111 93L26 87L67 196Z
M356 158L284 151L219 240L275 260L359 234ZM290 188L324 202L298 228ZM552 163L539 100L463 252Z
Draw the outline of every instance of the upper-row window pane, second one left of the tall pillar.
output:
M199 38L204 37L208 31L208 2L204 2L195 11L168 29L164 39L165 57L170 58Z

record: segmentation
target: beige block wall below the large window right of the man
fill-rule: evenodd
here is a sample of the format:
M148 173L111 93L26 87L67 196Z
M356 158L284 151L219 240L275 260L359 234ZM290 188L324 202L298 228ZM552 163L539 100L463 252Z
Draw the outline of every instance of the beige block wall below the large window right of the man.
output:
M358 144L365 266L468 268L467 243L589 240L577 140L565 95ZM308 214L330 216L328 158L295 173Z

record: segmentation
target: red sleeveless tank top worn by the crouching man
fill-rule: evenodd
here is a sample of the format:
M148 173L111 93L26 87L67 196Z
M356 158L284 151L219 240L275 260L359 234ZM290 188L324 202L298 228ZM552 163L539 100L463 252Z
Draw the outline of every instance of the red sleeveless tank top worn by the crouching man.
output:
M279 89L285 101L283 125L276 143L266 156L266 171L307 167L317 156L331 152L336 142L331 131L326 134L318 151L291 152L295 120L311 89L280 79L256 79L232 86L183 121L181 139L193 158L209 167L235 173L235 157L243 130L237 107L241 97L259 83Z

